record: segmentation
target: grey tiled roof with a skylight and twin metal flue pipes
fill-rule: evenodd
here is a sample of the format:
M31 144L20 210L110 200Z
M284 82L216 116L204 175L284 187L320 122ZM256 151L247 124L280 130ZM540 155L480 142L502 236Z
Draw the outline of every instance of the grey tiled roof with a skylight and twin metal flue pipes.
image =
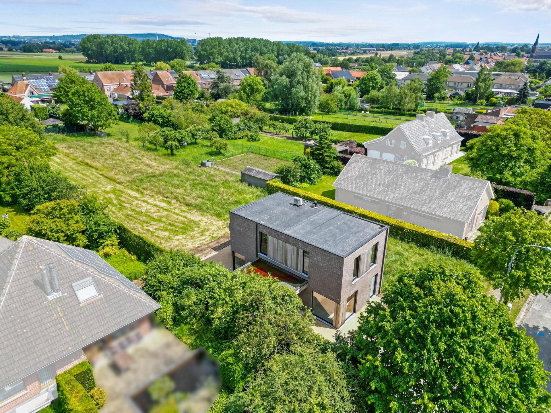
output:
M54 264L61 295L48 300L40 265ZM79 303L72 284L99 296ZM160 306L88 249L23 236L0 253L0 388Z

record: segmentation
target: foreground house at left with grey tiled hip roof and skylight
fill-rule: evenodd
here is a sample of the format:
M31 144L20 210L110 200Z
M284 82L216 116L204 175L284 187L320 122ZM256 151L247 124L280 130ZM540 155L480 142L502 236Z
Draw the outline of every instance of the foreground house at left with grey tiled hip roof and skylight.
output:
M114 336L147 333L149 314L158 308L88 249L3 238L0 412L33 413L49 405L57 398L57 374L86 360L90 349L113 349Z

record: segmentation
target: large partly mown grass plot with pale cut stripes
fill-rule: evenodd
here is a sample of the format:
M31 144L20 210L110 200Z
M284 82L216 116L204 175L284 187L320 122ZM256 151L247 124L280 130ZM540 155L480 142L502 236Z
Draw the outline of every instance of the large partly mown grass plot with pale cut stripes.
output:
M52 168L109 202L113 218L164 248L190 249L228 233L228 211L266 195L233 173L116 138L51 134ZM193 146L193 145L188 145Z

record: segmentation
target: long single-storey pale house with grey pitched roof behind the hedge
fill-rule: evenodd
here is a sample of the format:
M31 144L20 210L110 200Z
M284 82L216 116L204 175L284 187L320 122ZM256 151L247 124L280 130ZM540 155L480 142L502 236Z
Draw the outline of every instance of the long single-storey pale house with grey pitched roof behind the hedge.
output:
M489 181L353 155L335 187L335 200L430 230L465 238L494 198Z

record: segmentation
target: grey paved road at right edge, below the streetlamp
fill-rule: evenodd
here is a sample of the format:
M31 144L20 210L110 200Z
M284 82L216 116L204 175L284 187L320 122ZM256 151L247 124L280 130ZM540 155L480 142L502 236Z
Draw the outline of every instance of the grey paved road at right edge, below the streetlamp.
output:
M526 335L531 336L539 347L538 357L543 361L545 369L551 368L551 296L538 295L525 319L520 325L526 329ZM547 391L551 392L551 382L547 382Z

